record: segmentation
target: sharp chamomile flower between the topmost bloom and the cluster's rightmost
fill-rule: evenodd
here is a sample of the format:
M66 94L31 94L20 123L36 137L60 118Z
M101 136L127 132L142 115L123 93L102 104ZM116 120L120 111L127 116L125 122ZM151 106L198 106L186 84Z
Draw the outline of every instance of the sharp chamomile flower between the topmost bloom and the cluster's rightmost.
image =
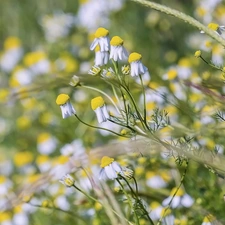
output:
M110 50L110 59L113 59L114 61L120 60L126 60L128 57L127 50L123 47L123 39L119 36L114 36L111 41L111 50Z

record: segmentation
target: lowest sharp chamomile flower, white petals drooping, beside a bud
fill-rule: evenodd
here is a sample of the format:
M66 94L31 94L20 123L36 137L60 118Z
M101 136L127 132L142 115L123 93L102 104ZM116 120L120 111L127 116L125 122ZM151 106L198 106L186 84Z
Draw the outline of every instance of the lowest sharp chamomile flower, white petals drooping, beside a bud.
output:
M108 156L102 157L101 168L99 174L100 180L114 180L118 177L118 174L122 172L120 164Z

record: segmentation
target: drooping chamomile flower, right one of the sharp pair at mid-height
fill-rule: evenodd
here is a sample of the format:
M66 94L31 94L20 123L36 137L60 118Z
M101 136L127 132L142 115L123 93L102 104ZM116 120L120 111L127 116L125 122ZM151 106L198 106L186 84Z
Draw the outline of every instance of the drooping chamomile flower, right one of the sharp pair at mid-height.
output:
M91 100L91 108L95 111L98 122L106 122L110 118L105 102L101 96Z

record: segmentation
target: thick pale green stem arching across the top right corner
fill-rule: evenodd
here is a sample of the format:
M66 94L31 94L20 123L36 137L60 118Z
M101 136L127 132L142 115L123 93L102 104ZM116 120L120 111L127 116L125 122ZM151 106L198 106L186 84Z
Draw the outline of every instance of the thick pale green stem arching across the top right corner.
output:
M204 31L211 38L215 39L218 43L220 43L222 46L225 47L225 40L220 35L218 35L215 31L209 29L208 27L204 26L202 23L200 23L199 21L197 21L191 16L188 16L178 10L171 9L170 7L167 7L155 2L147 1L147 0L131 0L131 1L140 3L141 5L144 5L146 7L155 9L167 15L174 16L178 19L181 19L185 23L189 23L191 26L198 28L200 31Z

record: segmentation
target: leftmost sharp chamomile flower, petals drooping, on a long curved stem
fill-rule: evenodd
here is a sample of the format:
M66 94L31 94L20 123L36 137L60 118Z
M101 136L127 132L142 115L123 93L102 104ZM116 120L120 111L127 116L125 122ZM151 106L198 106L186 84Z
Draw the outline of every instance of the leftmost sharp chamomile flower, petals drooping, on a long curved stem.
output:
M70 103L70 97L66 94L58 95L56 99L56 104L60 106L62 111L63 119L76 114L75 109L73 108L72 104Z

